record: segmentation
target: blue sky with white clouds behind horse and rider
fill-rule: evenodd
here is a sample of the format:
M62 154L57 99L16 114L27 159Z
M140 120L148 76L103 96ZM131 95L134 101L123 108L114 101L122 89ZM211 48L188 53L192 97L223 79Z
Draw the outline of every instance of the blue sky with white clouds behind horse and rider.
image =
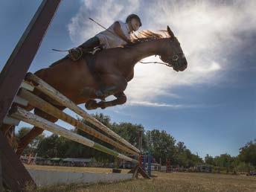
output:
M40 3L0 1L0 69ZM108 27L136 13L140 30L165 30L169 25L188 68L178 73L164 65L137 64L125 91L127 103L89 113L103 112L112 121L141 124L146 130L165 130L202 158L207 153L237 156L240 147L256 138L255 10L254 0L63 0L29 71L47 68L65 55L52 48L76 47L102 31L89 17Z

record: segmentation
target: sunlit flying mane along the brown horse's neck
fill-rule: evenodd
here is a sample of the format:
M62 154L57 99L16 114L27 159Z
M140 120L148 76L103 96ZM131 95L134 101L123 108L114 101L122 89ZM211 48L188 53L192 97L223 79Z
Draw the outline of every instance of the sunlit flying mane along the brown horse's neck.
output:
M132 33L131 34L132 45L138 44L140 42L147 42L151 40L164 39L164 38L170 37L167 31L165 30L160 30L160 31L161 33L154 33L153 31L149 31L149 30L139 31L138 33Z

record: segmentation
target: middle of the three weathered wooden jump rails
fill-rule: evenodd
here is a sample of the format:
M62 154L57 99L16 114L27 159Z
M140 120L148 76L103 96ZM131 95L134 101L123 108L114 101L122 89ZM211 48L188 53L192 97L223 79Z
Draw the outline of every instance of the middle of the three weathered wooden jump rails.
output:
M28 92L25 89L20 89L18 92L18 95L24 98L25 100L28 100L31 106L34 106L37 109L40 109L43 112L46 112L49 115L54 116L55 118L61 119L62 121L65 121L66 123L71 124L74 127L77 127L78 129L81 129L84 132L96 138L99 138L100 140L105 141L108 144L112 144L112 146L114 147L118 147L119 149L124 150L127 153L138 156L138 153L130 150L128 147L125 147L122 144L119 144L118 142L107 137L106 135L103 135L101 132L98 132L97 130L93 129L92 127L89 127L83 122L78 121L77 119L71 117L70 115L66 114L60 109L57 109L56 107L52 106L50 103L46 102L45 100L42 100L42 98L37 97L36 95L33 95L33 93Z

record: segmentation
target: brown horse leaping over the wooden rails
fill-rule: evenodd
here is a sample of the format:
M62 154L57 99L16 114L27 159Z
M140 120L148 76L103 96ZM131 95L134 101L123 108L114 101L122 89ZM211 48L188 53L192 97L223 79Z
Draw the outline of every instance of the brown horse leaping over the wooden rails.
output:
M86 109L105 109L109 106L126 103L127 97L124 90L127 83L132 80L134 66L141 59L152 55L159 55L164 63L175 71L184 71L187 68L187 60L180 47L179 41L170 28L167 27L166 36L150 31L141 32L134 36L134 43L124 48L109 48L94 55L85 55L80 60L73 62L69 59L60 60L49 68L36 71L36 76L63 93L76 104L86 103ZM65 109L51 98L42 93L35 93L59 109ZM105 101L109 95L114 95L115 100ZM95 99L101 99L97 103ZM32 110L33 106L26 109ZM57 118L35 109L34 113L56 122ZM1 128L7 132L8 126ZM24 148L41 134L43 129L33 127L21 141L17 149L20 155Z

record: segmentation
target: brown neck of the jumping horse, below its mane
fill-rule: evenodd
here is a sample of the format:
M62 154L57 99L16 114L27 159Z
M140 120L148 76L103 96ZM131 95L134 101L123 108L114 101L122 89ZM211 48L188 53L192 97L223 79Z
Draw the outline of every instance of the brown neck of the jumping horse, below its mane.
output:
M134 47L130 49L133 60L135 63L138 63L138 61L145 57L150 57L156 54L161 55L164 51L166 42L166 39L155 39L138 43L138 45L133 45Z

